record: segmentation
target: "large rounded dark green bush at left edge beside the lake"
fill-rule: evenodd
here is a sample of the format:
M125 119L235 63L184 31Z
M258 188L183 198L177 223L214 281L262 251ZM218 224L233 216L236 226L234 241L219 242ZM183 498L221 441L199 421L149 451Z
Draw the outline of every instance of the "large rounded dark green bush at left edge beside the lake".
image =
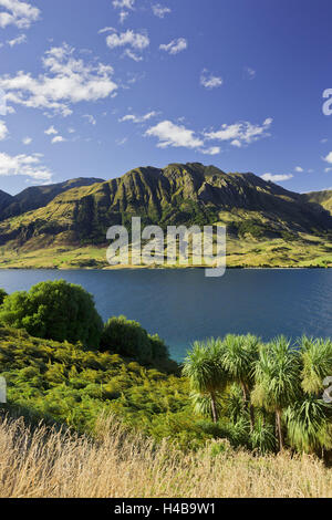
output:
M25 329L35 337L81 342L94 349L103 330L93 297L64 280L41 282L29 292L10 294L0 309L0 322Z

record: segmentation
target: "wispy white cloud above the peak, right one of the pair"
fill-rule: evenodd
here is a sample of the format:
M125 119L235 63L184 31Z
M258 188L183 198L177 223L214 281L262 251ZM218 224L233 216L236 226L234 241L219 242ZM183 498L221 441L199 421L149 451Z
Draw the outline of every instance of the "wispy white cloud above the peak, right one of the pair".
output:
M224 124L217 132L205 133L205 137L211 141L230 141L232 146L241 147L242 144L250 144L262 137L267 137L273 119L268 117L261 125L253 125L248 121L235 123L232 125Z

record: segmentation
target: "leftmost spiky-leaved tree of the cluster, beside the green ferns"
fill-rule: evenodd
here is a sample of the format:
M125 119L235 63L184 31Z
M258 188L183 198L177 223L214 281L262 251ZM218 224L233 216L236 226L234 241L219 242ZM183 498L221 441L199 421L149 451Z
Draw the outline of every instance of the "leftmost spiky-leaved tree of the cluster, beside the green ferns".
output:
M221 364L220 340L195 342L185 360L183 373L190 381L196 409L206 410L208 397L214 423L218 422L218 401L227 385L227 373ZM200 401L197 396L200 395Z

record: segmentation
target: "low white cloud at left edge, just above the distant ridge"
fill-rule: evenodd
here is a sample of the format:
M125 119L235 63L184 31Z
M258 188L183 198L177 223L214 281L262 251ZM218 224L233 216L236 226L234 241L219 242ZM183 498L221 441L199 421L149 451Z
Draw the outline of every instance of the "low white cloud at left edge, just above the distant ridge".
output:
M38 180L50 180L52 173L41 164L41 154L10 156L0 153L0 176L22 175Z

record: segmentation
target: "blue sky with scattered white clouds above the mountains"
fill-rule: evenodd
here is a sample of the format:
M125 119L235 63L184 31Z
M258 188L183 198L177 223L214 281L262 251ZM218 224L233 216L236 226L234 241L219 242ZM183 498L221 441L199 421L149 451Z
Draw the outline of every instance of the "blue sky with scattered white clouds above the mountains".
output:
M0 188L200 162L332 187L330 0L0 0Z

